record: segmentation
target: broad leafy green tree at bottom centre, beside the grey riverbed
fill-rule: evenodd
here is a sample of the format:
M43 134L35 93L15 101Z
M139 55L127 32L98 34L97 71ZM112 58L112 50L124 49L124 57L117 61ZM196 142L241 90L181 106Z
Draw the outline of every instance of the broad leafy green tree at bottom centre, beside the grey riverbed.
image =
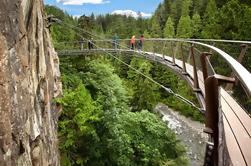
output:
M160 165L184 155L175 135L148 111L109 114L106 118L104 140L111 165ZM182 161L187 165L185 158Z

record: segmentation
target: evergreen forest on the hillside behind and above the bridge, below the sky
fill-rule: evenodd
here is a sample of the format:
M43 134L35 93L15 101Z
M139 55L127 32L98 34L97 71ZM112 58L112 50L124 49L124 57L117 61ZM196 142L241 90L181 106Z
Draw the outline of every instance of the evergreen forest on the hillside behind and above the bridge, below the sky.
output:
M146 37L249 40L251 36L249 0L164 0L149 19L111 14L73 19L53 6L46 9L66 23L105 37L116 33L121 39L145 34ZM68 32L65 27L53 30L54 34ZM53 39L58 42L78 37L68 32L55 35Z

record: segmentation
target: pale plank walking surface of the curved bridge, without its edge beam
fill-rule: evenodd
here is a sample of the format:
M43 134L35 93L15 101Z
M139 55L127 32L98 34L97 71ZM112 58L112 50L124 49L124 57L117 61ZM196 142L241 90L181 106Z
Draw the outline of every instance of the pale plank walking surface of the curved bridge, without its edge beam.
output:
M151 54L148 52L148 54ZM163 57L161 54L154 56ZM165 56L165 59L172 62L172 57ZM175 63L182 69L182 61L176 59ZM187 73L193 76L193 66L186 63ZM205 96L203 73L198 70L199 87ZM231 159L231 165L251 165L251 118L241 106L223 88L220 88L220 106L223 118L223 139L227 149L226 156Z

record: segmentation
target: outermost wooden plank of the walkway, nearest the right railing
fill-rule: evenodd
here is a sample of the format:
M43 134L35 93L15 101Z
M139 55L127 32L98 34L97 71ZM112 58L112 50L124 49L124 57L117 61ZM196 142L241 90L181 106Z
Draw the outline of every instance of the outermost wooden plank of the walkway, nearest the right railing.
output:
M244 128L247 130L249 136L251 136L251 118L248 114L240 107L240 105L224 90L221 89L222 97L230 103L230 107L239 118Z

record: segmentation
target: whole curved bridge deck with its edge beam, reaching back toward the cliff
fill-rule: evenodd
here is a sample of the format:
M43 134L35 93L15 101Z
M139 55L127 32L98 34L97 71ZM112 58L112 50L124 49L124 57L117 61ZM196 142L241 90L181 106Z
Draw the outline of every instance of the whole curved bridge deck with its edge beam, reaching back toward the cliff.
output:
M84 52L91 53L95 50L85 50L85 51L76 51L75 55L81 55ZM96 50L97 51L97 50ZM102 50L99 50L102 51ZM116 52L116 51L124 51L124 52L136 52L142 54L139 51L133 50L113 50L106 49L105 51ZM64 52L61 55L71 54L71 51ZM60 54L59 54L60 55ZM165 60L163 60L162 54L152 53L152 52L144 52L146 58L150 58L151 60L158 61L162 64L165 64L170 69L182 75L182 61L179 59L175 59L175 66L173 65L172 57L164 56ZM186 80L189 82L190 86L193 87L193 66L186 63L187 76ZM200 100L200 104L203 108L205 108L205 86L204 86L204 78L203 73L198 70L198 82L199 88L201 90L200 93L197 93L197 97ZM236 165L236 166L251 166L251 118L249 115L241 108L241 106L233 99L231 95L229 95L223 88L219 90L219 104L220 104L220 112L222 113L222 129L221 133L222 138L219 138L219 142L222 143L222 147L226 149L222 150L224 153L222 156L225 158L221 158L219 160L228 160L227 165ZM225 146L224 146L225 145ZM222 148L219 148L219 151ZM226 161L222 161L222 163L226 163Z

